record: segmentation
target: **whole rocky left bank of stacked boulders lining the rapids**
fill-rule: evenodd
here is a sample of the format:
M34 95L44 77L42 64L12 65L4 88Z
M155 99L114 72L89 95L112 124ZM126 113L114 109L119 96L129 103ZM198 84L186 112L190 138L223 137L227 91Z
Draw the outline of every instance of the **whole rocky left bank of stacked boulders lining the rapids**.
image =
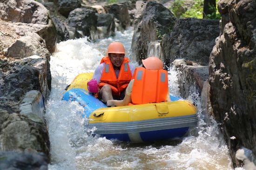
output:
M40 3L3 0L0 27L14 30L5 36L17 37L0 53L0 169L46 170L50 142L44 114L55 26Z

